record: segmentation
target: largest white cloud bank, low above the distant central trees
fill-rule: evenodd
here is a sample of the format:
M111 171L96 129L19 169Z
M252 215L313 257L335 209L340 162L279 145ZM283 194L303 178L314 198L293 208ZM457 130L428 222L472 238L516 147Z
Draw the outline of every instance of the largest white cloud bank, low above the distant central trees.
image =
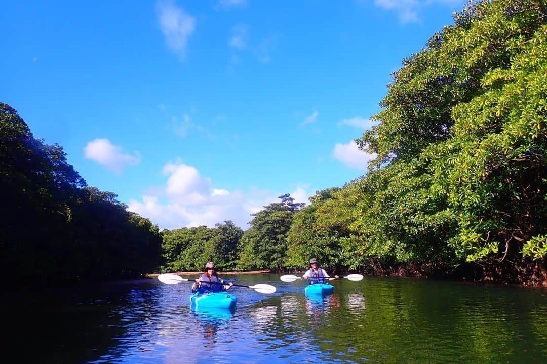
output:
M251 214L263 210L273 202L280 202L282 193L252 190L248 193L211 187L210 178L203 177L193 166L182 162L167 163L163 168L168 175L161 189L149 191L141 201L131 199L128 209L169 230L205 225L214 227L226 220L247 230ZM309 203L305 188L299 185L290 193L295 202ZM284 193L284 192L283 192Z

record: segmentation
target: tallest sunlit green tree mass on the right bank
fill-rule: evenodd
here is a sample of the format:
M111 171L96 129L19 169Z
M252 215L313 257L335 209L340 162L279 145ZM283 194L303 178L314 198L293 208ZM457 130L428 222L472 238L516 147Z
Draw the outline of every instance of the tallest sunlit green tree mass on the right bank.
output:
M544 257L546 19L543 2L470 2L403 62L356 140L378 157L350 249L457 266L527 242Z

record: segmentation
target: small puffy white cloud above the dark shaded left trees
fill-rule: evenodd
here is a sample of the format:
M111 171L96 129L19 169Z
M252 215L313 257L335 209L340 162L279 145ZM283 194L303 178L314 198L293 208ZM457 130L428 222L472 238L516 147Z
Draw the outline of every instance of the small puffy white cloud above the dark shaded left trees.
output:
M84 148L86 158L98 162L117 174L123 172L125 167L141 162L139 153L137 151L134 153L135 155L130 155L122 152L119 146L110 143L110 140L105 138L92 140Z

